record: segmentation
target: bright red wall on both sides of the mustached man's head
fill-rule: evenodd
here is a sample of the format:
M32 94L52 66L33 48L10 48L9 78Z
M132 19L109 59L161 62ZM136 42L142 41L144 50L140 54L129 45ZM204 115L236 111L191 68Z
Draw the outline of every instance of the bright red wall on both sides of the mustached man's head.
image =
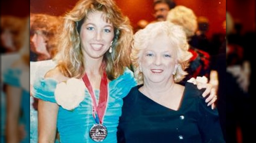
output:
M140 19L153 21L153 0L116 0L118 6L130 18L133 26ZM209 31L212 33L224 32L222 23L226 19L226 0L175 0L177 5L191 8L197 16L209 19Z

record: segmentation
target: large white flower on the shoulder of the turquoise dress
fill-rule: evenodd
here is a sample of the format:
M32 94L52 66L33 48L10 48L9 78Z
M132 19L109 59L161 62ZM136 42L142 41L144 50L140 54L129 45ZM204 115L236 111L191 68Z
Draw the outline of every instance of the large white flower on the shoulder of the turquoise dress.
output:
M54 91L57 104L64 109L72 110L77 107L85 98L85 85L76 78L57 84Z

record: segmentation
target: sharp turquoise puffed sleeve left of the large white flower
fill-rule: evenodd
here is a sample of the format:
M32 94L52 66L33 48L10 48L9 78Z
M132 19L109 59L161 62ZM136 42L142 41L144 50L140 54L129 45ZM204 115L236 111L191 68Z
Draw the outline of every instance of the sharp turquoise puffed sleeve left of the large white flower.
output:
M56 103L54 91L57 81L52 78L38 78L34 81L32 95L35 98Z

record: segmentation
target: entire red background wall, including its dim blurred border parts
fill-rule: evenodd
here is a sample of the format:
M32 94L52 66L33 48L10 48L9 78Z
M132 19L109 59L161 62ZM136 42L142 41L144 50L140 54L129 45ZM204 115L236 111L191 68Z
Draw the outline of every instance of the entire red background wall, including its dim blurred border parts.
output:
M8 0L1 1L1 15L27 16L30 12L62 15L73 8L77 0ZM194 10L197 16L206 16L210 22L207 35L223 32L221 27L225 19L225 10L234 19L240 19L243 31L255 30L255 0L175 0ZM116 0L117 5L127 15L135 27L140 19L154 20L153 0Z

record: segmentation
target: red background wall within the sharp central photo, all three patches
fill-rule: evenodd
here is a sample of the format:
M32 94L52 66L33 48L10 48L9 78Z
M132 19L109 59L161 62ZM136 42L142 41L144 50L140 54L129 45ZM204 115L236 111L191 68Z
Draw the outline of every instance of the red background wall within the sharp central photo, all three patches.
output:
M48 13L62 15L71 9L77 0L31 0L30 8L33 13ZM130 18L133 27L140 19L153 21L153 0L116 0L123 13ZM224 32L222 22L225 20L226 0L176 0L177 5L184 5L194 10L197 16L209 19L209 31Z

